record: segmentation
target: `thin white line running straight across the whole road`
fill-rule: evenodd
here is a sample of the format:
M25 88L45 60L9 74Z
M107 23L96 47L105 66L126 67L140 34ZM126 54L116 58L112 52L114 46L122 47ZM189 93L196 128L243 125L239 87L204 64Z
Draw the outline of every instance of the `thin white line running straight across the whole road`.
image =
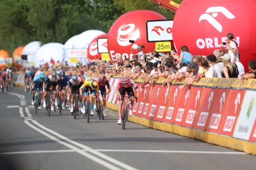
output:
M82 151L89 151L88 149L81 149ZM123 150L123 149L94 149L101 152L150 152L150 153L173 153L173 154L234 154L247 155L245 152L226 152L226 151L191 151L191 150ZM33 150L33 151L17 151L17 152L2 152L0 155L12 154L44 154L44 153L58 153L58 152L76 152L75 150Z

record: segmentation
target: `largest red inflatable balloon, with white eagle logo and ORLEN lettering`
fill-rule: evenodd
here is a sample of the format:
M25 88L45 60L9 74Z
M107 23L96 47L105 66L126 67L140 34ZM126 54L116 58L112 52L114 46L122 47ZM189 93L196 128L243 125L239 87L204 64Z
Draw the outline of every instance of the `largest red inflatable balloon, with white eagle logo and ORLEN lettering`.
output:
M221 50L227 34L233 33L240 61L248 71L247 63L256 54L255 8L255 1L183 0L174 16L173 43L179 52L186 45L193 55L210 55Z

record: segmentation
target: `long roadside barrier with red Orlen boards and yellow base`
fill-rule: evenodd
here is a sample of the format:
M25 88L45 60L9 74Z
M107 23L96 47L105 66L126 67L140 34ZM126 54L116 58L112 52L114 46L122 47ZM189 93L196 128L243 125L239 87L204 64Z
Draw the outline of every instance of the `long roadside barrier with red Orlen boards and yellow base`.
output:
M24 84L20 76L14 74L15 83ZM108 80L111 92L107 107L118 111L119 79ZM162 87L164 80L159 78L154 86L145 88L141 88L142 79L134 80L140 97L129 121L256 154L256 79L241 85L240 79L202 78L183 89L179 86L185 80L174 81L170 88Z

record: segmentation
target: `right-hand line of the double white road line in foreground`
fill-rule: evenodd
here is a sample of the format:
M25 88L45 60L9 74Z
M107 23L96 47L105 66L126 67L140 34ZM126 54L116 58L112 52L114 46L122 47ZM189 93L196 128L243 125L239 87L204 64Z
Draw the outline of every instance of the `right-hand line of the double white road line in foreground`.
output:
M99 152L99 151L97 151L97 150L94 150L94 149L92 149L92 148L90 148L90 147L87 147L87 146L85 146L85 145L82 145L81 143L78 143L78 142L76 142L76 141L73 141L73 140L71 140L71 139L68 139L68 138L64 137L63 135L61 135L61 134L59 134L59 133L57 133L57 132L54 132L54 131L52 131L51 129L46 128L46 127L43 126L42 124L39 124L39 123L36 122L35 120L33 120L32 122L35 123L36 125L38 125L40 128L42 128L42 129L44 129L44 130L46 130L46 131L48 131L48 132L50 132L50 133L56 135L57 137L59 137L59 138L61 138L61 139L63 139L63 140L66 140L67 142L70 142L70 143L72 143L73 145L76 145L76 146L78 146L78 147L81 147L81 148L83 148L83 149L86 149L87 151L91 152L92 154L97 155L97 156L99 156L99 157L101 157L101 158L104 158L104 159L108 160L109 162L111 162L111 163L113 163L113 164L116 164L116 165L118 165L118 166L121 166L121 167L124 168L124 169L136 170L136 168L134 168L134 167L132 167L132 166L130 166L130 165L124 164L124 163L122 163L122 162L120 162L120 161L118 161L118 160L116 160L116 159L114 159L114 158L111 158L111 157L109 157L109 156L107 156L107 155L102 154L101 152ZM95 161L95 160L94 160L94 161Z

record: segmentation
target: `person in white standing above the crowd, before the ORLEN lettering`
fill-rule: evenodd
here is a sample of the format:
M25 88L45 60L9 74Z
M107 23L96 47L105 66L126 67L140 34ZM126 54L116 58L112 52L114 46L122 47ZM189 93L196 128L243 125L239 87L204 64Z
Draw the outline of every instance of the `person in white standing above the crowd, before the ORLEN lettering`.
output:
M238 63L239 62L239 54L238 54L238 49L237 46L238 44L236 41L234 41L234 35L233 33L228 33L227 35L227 48L223 48L223 43L221 43L221 49L223 53L228 53L231 57L231 64Z

